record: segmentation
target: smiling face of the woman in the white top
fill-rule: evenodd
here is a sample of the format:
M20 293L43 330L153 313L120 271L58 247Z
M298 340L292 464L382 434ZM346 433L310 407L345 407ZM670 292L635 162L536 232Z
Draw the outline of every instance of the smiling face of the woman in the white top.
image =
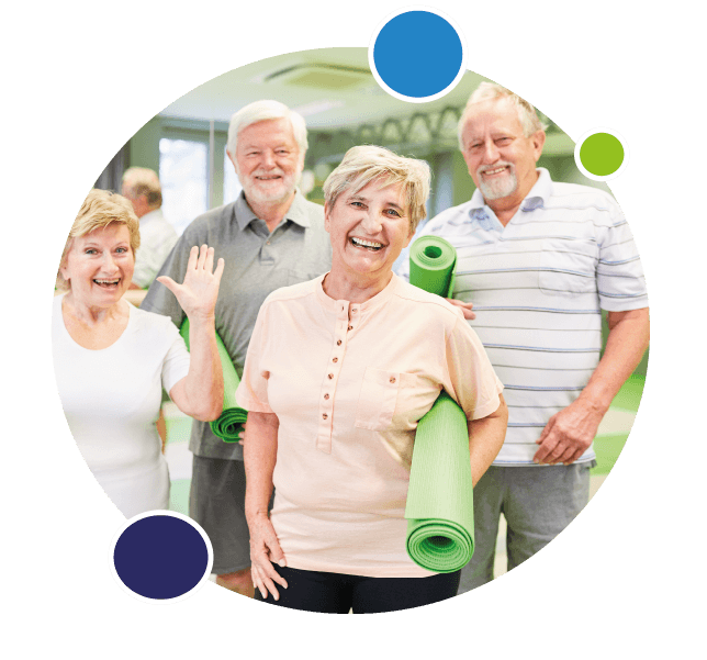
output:
M121 223L74 238L60 268L74 300L91 307L115 304L130 287L134 270L130 232Z

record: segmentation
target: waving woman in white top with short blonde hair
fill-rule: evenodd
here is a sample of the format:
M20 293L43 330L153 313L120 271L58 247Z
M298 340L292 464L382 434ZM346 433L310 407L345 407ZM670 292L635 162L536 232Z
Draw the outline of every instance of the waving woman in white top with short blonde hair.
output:
M194 246L184 282L159 278L190 321L191 358L167 317L123 300L139 247L138 221L119 194L92 190L61 254L52 309L52 355L61 406L99 485L126 517L169 505L155 423L162 387L188 415L223 405L214 305L223 259Z

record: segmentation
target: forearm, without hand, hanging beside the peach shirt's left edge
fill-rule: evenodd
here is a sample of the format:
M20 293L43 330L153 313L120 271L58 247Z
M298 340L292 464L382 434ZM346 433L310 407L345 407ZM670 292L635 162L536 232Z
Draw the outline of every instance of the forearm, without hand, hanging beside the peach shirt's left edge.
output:
M248 413L243 443L248 525L259 516L268 516L272 473L278 456L278 428L279 421L274 414Z

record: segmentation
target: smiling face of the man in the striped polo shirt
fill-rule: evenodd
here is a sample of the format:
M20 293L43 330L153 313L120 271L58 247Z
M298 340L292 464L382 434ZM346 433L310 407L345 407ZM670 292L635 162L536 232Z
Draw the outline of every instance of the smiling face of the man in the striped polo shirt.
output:
M469 174L484 200L519 204L538 180L545 133L526 137L516 107L494 99L478 103L467 115L461 137Z

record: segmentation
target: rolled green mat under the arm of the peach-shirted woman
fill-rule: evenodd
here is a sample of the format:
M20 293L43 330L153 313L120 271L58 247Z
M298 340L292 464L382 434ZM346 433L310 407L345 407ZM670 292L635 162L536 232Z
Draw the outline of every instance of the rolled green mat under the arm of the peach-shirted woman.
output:
M405 506L407 553L451 573L474 551L474 505L467 416L446 392L417 425Z

